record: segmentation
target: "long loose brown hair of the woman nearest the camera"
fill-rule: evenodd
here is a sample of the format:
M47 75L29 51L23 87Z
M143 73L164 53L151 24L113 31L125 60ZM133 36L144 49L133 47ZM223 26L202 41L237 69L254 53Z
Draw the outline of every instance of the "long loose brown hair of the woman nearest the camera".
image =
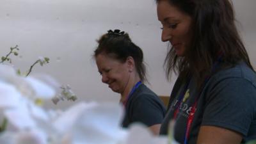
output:
M157 0L159 1L164 0ZM221 54L222 68L234 67L244 61L250 63L244 44L236 28L232 3L228 0L166 0L192 18L192 44L186 56L178 57L169 47L164 61L166 76L172 71L181 78L193 73L199 85L211 74L212 66ZM254 71L254 70L253 70Z

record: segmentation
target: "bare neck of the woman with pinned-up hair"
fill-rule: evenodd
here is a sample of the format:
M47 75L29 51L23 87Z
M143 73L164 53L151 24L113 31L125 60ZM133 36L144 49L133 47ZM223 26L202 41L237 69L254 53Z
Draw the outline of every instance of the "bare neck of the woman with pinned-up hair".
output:
M125 90L123 93L121 93L121 99L120 102L124 102L129 93L131 92L132 88L135 86L136 83L138 83L140 81L140 77L138 76L134 76L134 77L130 77L129 81L127 82L127 85L125 87Z

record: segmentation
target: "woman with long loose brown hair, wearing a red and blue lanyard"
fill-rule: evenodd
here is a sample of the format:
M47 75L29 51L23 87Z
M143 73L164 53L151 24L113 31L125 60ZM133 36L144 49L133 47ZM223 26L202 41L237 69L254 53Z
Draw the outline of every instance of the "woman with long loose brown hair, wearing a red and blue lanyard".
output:
M256 74L228 0L157 0L166 76L179 74L161 125L175 120L179 143L256 139Z

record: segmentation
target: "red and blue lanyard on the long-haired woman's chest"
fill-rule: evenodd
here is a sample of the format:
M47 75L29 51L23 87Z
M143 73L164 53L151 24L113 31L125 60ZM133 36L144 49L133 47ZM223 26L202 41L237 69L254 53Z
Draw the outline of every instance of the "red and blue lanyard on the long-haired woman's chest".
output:
M221 60L221 56L222 54L220 54L220 56L218 57L218 60L214 63L214 65L212 66L212 70L211 72L215 72L216 68L218 67L219 63L220 63L220 60ZM185 138L184 138L184 144L187 144L188 143L188 138L189 138L189 131L191 130L191 124L193 122L193 119L195 117L195 111L196 111L196 106L197 106L197 102L198 102L198 99L204 89L204 86L205 84L209 81L211 75L205 77L205 81L204 83L202 84L201 88L200 88L200 91L199 91L199 95L198 97L196 97L196 100L195 100L195 103L193 104L192 108L191 108L191 111L188 115L188 121L187 121L187 124L186 124L186 129L185 129ZM173 118L176 119L177 118L177 114L179 113L179 107L180 107L180 104L182 102L182 99L184 98L184 95L186 93L186 91L188 90L188 86L189 86L189 83L191 81L191 77L189 77L189 81L186 83L186 85L184 86L184 90L182 92L182 95L180 95L179 99L178 99L178 104L177 106L175 107L175 111L174 111L174 114L173 114Z

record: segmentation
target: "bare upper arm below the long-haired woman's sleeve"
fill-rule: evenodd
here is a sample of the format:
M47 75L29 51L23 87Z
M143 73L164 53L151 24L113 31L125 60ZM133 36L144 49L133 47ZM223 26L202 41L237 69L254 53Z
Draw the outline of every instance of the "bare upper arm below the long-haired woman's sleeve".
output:
M239 144L242 141L242 135L215 126L201 126L198 134L197 144Z

